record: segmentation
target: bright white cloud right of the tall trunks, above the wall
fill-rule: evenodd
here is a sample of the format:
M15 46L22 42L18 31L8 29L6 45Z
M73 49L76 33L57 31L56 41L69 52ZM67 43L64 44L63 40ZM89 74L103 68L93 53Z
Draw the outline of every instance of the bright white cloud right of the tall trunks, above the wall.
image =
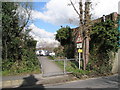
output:
M92 0L95 2L95 0ZM118 2L120 0L99 0L96 1L97 5L94 7L93 17L102 17L113 12L118 13Z

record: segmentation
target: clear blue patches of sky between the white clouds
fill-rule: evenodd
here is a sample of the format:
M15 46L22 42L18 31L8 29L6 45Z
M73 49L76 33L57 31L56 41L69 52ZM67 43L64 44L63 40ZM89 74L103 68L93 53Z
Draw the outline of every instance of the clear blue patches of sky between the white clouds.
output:
M36 11L36 14L38 13L38 14L40 14L40 12L41 13L45 13L45 12L48 12L47 11L47 8L45 7L46 6L46 4L47 4L47 2L34 2L33 3L33 9ZM48 8L49 9L49 8ZM57 9L56 9L57 10ZM57 11L58 12L58 11ZM52 12L53 14L55 13L55 12ZM36 15L36 14L34 14L34 15ZM58 15L59 16L59 15ZM36 17L36 16L33 16L34 17L34 24L37 26L37 27L39 27L39 28L42 28L42 29L45 29L46 31L48 31L48 32L52 32L52 33L55 33L56 32L56 30L58 30L58 29L60 29L60 27L61 26L66 26L66 25L69 25L69 26L71 26L71 28L74 28L74 27L76 27L76 25L72 25L72 24L70 24L70 23L56 23L56 22L51 22L52 20L50 20L50 22L49 21L47 21L47 20L45 20L45 19L42 19L42 17ZM49 18L51 17L51 19L54 19L54 16L49 16ZM47 16L46 17L44 17L44 18L47 18ZM57 17L56 17L57 18ZM60 20L60 18L59 18L59 20Z

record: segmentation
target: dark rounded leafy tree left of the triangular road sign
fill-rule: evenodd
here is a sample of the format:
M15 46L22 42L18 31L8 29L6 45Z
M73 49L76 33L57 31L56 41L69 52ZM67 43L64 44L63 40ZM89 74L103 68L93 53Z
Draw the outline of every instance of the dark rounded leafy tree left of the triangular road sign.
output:
M65 57L67 58L73 58L74 57L74 52L75 52L75 45L72 40L72 29L70 27L62 27L57 31L56 34L56 40L58 40L61 45L64 47L63 53Z

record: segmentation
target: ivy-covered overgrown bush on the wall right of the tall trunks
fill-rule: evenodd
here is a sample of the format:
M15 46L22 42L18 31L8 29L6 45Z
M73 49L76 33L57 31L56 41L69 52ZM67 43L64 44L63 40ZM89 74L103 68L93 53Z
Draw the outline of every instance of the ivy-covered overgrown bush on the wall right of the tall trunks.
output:
M95 71L96 74L111 72L110 52L117 52L119 41L119 32L115 24L116 22L106 20L105 22L96 23L92 27L90 60L87 69Z

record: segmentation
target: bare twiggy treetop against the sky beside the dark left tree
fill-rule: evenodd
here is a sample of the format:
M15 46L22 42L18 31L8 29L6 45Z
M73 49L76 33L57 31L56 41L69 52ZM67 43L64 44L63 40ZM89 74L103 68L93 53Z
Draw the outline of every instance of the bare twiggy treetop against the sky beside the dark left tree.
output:
M16 16L19 16L19 32L20 34L25 27L27 27L31 19L32 3L21 2L17 3L18 9L16 10Z

